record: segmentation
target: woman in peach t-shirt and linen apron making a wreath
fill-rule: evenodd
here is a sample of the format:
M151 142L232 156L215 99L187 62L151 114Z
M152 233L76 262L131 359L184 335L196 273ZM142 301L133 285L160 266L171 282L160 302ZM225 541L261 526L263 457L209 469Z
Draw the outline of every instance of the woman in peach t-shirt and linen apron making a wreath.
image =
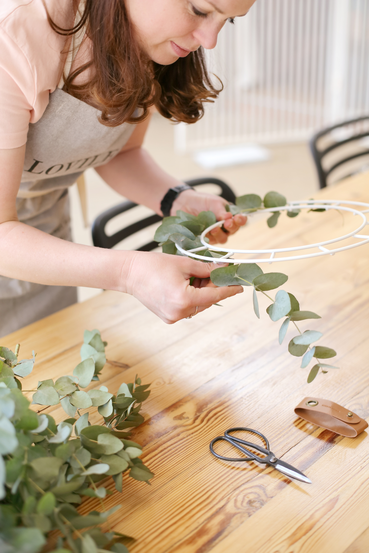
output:
M176 187L141 148L155 105L195 122L219 92L202 48L253 0L3 0L0 8L0 336L76 301L75 286L136 296L168 324L242 291L206 263L70 242L67 187L87 167L162 214L203 210L244 225L225 201ZM164 207L163 207L164 206ZM212 267L214 268L214 267ZM195 276L195 286L189 285Z

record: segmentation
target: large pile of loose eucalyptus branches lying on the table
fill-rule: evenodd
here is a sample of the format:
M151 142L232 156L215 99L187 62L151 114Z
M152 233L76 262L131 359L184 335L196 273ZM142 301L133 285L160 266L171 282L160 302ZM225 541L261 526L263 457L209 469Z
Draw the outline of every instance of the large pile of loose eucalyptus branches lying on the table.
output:
M98 381L106 357L106 342L98 330L84 333L82 361L73 374L38 383L37 390L23 390L21 379L32 372L35 356L18 361L19 345L12 352L0 347L0 551L38 553L51 530L59 530L58 553L127 553L120 541L127 538L99 525L120 505L105 509L111 494L98 483L112 476L122 492L122 474L147 482L154 474L139 456L142 447L128 439L129 428L144 421L139 414L148 398L150 384L123 383L116 395L105 386L86 388ZM118 364L118 363L114 363ZM67 418L56 425L49 414L29 409L24 392L32 392L33 404L61 404ZM97 406L104 426L91 425L89 413L80 409ZM77 417L77 418L76 418ZM74 430L74 436L72 431ZM96 498L100 510L81 516L76 505L82 496ZM87 530L86 530L87 529Z

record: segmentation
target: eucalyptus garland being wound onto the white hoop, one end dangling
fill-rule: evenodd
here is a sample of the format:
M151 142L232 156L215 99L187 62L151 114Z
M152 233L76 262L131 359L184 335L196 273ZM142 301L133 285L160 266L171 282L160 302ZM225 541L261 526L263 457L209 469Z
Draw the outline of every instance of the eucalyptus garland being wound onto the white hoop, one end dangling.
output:
M286 204L287 200L284 196L278 192L268 192L263 200L257 194L240 196L236 199L236 205L227 205L226 209L230 211L232 215L236 215L236 213L261 211L263 208L282 207ZM325 211L325 209L323 207L310 211ZM287 211L287 216L296 217L299 212L300 210L293 209ZM272 216L268 218L267 224L269 228L277 225L279 215L280 211L275 211ZM184 255L176 246L186 251L204 246L200 241L200 234L204 232L205 228L215 223L216 217L212 211L202 211L198 216L190 215L184 211L177 211L176 216L165 217L163 219L162 225L160 225L155 232L154 239L162 246L164 253ZM209 239L205 238L205 241L209 242ZM212 261L214 261L214 258L220 258L226 253L227 252L211 251L211 247L196 252L198 255L211 258ZM326 363L321 363L320 361L320 359L334 357L336 355L334 349L326 346L311 346L314 342L319 340L323 334L316 330L305 330L301 332L296 324L297 321L320 319L321 317L316 315L313 311L300 311L300 305L295 296L284 290L279 290L274 299L266 294L266 291L282 286L288 280L287 275L283 273L263 273L263 270L256 263L240 263L238 265L229 263L227 267L214 269L211 272L210 278L217 286L231 286L235 284L251 286L253 289L252 299L254 312L258 319L260 315L257 292L261 292L267 296L267 298L272 301L272 304L267 307L267 314L271 320L279 321L285 317L279 330L280 344L282 344L284 340L290 322L293 323L299 334L290 340L288 345L289 353L296 357L302 357L302 368L308 367L313 358L317 361L310 369L308 375L309 383L313 382L319 369L325 374L328 372L327 369L329 368L338 368ZM190 283L192 283L192 280Z

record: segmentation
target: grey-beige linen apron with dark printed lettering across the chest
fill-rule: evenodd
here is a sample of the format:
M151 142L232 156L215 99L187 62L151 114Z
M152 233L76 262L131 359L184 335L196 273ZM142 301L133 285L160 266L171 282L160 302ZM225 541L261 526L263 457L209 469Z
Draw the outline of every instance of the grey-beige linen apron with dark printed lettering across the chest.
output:
M108 163L131 136L134 125L105 127L100 112L56 88L37 123L30 123L19 221L71 241L68 187L83 171ZM0 276L0 336L77 301L72 286L46 286Z

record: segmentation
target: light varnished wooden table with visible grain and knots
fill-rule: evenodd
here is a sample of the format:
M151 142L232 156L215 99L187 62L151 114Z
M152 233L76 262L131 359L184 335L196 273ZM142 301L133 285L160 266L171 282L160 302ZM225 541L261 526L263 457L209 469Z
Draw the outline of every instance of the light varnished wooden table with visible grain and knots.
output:
M369 201L368 184L369 175L361 174L315 197ZM345 229L352 219L345 216ZM282 215L273 230L265 221L250 224L232 244L275 247L339 234L342 220L336 212L304 213L296 219ZM108 342L107 357L131 367L103 369L110 392L123 380L132 382L136 373L143 383L152 382L144 403L147 421L133 434L155 473L152 486L126 477L123 494L107 500L108 507L122 504L111 521L115 529L137 538L132 553L369 550L367 433L343 438L293 411L306 395L315 395L369 416L369 248L262 268L287 273L283 288L297 296L301 309L321 315L301 327L324 333L322 345L336 349L339 371L307 384L309 369L299 368L300 358L287 352L292 328L279 346L279 324L264 311L269 301L261 299L257 320L250 288L224 301L224 307L211 307L172 326L136 299L108 291L1 341L8 347L20 342L22 357L37 351L28 389L37 380L71 374L80 361L85 328L99 328ZM60 408L49 411L58 421L65 418ZM90 420L97 423L101 418L93 411ZM231 466L212 457L210 440L235 425L266 434L272 451L304 471L313 484L292 482L270 467ZM109 486L113 489L113 482ZM88 499L81 511L92 508Z

